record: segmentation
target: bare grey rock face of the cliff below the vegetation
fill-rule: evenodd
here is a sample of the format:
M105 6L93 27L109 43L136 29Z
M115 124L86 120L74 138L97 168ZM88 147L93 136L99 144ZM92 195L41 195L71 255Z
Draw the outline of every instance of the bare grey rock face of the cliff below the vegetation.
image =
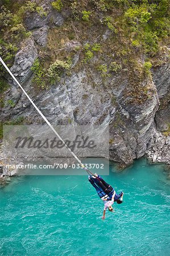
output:
M163 133L169 129L170 123L168 104L170 80L167 61L159 67L152 68L152 77L145 77L139 83L136 96L136 88L132 89L131 84L131 81L136 79L135 72L132 80L128 75L130 70L127 68L103 78L101 73L89 65L83 64L77 68L78 63L81 62L81 53L74 51L71 73L69 75L64 73L61 80L54 82L48 89L37 90L32 83L34 77L31 71L32 64L37 57L41 59L43 49L48 44L49 31L54 27L60 28L69 15L68 12L59 13L53 10L50 1L44 1L44 8L48 10L47 16L42 17L32 13L24 19L24 25L32 35L22 42L11 71L45 117L53 125L71 122L80 125L109 124L110 159L123 166L131 164L134 159L142 157L146 152L155 161L160 155L154 156L154 152L158 151L157 147L162 149L164 144L166 156L164 158L162 155L161 158L164 162L168 162L170 154L168 134L166 138L161 135L163 137L161 147L159 147L160 139L155 139L158 131ZM109 36L110 31L106 29L97 42L105 43L109 40ZM83 45L78 39L70 39L62 44L63 48L59 50L64 49L68 54L72 49ZM143 58L144 56L141 57ZM92 60L93 65L96 59L97 56ZM27 123L43 122L18 86L7 75L6 79L10 88L5 93L5 101L12 99L15 106L5 104L1 111L1 119L5 121L24 117ZM147 98L143 98L143 91L146 88ZM163 150L161 154L164 154Z

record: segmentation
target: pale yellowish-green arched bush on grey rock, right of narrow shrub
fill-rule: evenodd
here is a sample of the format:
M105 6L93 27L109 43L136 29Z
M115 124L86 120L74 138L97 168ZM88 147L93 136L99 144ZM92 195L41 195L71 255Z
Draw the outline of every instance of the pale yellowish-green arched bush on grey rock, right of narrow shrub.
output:
M60 81L60 76L64 71L71 68L71 61L56 60L55 63L51 64L47 71L47 76L51 84L55 81Z

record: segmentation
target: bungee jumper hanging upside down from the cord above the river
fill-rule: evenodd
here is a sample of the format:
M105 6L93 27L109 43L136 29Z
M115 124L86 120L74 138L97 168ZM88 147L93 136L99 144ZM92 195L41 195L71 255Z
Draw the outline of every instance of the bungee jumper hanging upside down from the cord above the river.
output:
M102 179L101 176L94 174L95 176L89 175L88 179L90 183L96 188L98 196L103 200L105 204L103 210L103 219L105 219L106 209L108 208L110 212L113 212L113 207L111 205L114 204L114 201L118 204L123 203L123 192L117 193L114 191L114 188L111 185L107 184L105 180Z

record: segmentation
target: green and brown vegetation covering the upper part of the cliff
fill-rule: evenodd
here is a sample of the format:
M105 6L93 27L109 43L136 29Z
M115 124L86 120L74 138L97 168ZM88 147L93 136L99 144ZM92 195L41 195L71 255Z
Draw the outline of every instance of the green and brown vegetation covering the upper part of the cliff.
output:
M9 65L13 64L23 39L31 36L31 31L24 24L25 18L30 13L48 15L41 4L41 1L2 1L0 53ZM49 66L57 59L67 61L68 55L73 58L75 52L78 52L80 61L75 68L80 68L83 63L93 67L95 65L101 75L105 76L110 70L110 64L115 63L115 72L121 67L128 71L127 76L138 73L138 79L133 82L135 87L148 75L144 63L159 59L168 41L167 0L58 0L51 2L51 7L61 13L64 11L67 17L63 26L51 28L48 32L47 47L38 60L40 72L35 74L36 84L40 76L43 80L44 73L48 73ZM102 40L105 37L106 40ZM63 46L72 40L80 42L81 46L77 49L73 47L68 53ZM144 60L141 60L142 55ZM45 85L41 87L47 88Z

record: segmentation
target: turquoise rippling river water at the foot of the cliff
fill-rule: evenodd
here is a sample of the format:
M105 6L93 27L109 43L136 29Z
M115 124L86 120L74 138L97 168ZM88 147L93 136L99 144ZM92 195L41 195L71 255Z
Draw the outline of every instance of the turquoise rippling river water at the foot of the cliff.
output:
M0 255L166 255L169 180L163 166L136 161L103 176L124 202L102 220L87 176L20 176L1 188Z

